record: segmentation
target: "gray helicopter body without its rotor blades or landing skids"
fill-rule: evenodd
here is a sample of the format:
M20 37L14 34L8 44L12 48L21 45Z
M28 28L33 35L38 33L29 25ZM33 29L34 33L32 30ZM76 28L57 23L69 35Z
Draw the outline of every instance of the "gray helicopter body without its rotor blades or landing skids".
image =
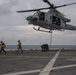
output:
M48 12L37 11L32 16L28 16L26 20L29 24L49 30L76 30L76 26L67 24L70 19L65 18L56 9L50 9Z

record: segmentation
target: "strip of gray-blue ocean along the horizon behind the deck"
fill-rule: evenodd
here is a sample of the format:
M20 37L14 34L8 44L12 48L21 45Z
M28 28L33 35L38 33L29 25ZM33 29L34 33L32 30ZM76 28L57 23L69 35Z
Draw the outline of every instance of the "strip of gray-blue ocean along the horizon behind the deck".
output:
M76 49L76 45L51 45L49 48L59 49ZM22 45L23 50L41 50L41 45ZM17 45L6 45L6 50L17 50Z

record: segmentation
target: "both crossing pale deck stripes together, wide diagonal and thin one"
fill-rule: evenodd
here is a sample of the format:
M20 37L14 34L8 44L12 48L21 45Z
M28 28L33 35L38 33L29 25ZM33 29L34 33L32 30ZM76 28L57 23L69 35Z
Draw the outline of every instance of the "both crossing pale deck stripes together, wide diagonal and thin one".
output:
M29 73L36 73L36 72L41 72L39 75L49 75L49 73L50 73L51 70L76 67L76 64L53 67L56 59L58 58L58 55L59 55L60 51L61 51L61 49L50 60L50 62L46 65L46 67L43 70L42 69L40 69L40 70L31 70L31 71L23 71L23 72L16 72L16 73L8 73L8 74L3 74L3 75L20 75L20 74L29 74Z

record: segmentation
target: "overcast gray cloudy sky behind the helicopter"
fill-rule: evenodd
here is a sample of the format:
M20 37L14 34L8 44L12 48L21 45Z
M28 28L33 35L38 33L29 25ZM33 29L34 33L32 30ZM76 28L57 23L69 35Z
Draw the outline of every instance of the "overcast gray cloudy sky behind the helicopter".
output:
M57 5L76 2L76 0L49 0ZM17 13L18 10L48 7L42 0L0 0L0 41L7 45L16 45L21 40L23 45L50 44L49 33L33 30L25 20L34 12ZM76 5L57 9L71 19L69 24L76 26ZM48 10L46 10L47 12ZM52 45L76 45L76 31L53 31Z

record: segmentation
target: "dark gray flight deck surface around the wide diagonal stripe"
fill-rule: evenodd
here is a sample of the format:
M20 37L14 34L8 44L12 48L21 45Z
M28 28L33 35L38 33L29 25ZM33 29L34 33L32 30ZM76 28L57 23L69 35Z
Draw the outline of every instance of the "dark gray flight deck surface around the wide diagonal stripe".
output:
M23 54L12 51L6 55L2 53L0 54L0 75L39 75L58 51L30 50L24 51ZM71 67L66 67L70 65ZM60 66L62 68L59 69ZM52 69L49 75L76 75L76 50L61 50L52 68L56 67L57 69Z

